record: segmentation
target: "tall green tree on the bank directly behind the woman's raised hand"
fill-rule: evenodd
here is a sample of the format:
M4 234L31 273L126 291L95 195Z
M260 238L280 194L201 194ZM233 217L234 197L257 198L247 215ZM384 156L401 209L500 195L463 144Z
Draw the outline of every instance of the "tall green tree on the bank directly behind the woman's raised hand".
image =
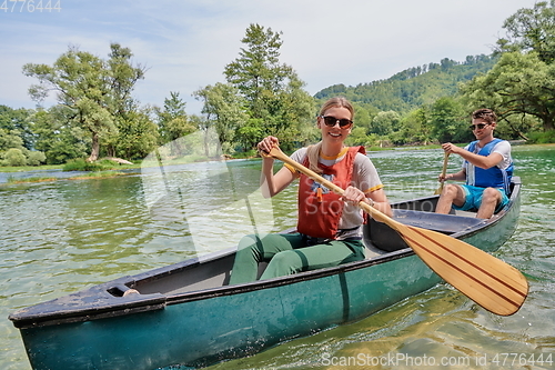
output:
M241 136L244 149L266 134L280 137L284 148L302 141L300 134L306 132L304 126L314 116L314 101L303 90L304 82L292 67L280 63L281 34L250 24L241 40L246 47L224 69L228 82L244 98L251 118L243 128L245 136Z

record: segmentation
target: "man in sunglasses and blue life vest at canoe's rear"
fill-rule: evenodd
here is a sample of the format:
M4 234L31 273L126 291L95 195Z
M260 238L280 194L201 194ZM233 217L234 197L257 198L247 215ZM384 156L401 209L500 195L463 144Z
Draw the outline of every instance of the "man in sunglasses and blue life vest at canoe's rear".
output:
M491 109L478 109L472 113L471 130L476 140L464 149L451 142L442 144L446 153L464 159L463 168L456 173L440 174L445 180L466 181L465 184L445 184L435 211L448 213L451 208L477 211L476 217L491 218L508 203L509 183L513 174L511 144L493 136L497 117Z

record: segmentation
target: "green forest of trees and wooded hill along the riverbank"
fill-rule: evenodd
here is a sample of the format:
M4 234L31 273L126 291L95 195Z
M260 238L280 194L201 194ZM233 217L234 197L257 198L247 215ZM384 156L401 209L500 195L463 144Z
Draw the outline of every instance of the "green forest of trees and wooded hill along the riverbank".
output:
M518 10L503 29L505 37L488 56L445 58L385 80L331 86L312 97L293 67L280 62L282 33L253 23L238 58L223 70L225 82L192 92L202 102L201 114L189 114L178 91L169 92L163 107L138 101L133 90L148 69L133 63L129 48L112 43L102 59L69 47L51 66L22 67L38 81L29 88L38 108L0 106L0 164L141 160L162 146L170 158L213 157L202 142L168 146L193 132L199 141L216 132L219 153L229 157L253 156L268 134L293 150L319 139L316 110L334 96L355 106L349 144L467 142L473 139L468 116L476 108L498 113L501 138L555 142L555 0ZM41 107L51 93L57 104Z

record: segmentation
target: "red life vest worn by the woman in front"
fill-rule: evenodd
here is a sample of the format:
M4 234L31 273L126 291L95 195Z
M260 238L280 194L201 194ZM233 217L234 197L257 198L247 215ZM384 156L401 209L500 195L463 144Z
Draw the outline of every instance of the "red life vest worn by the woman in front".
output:
M354 158L359 152L366 154L364 147L351 147L337 163L333 166L319 163L319 168L323 170L321 176L342 189L346 189L351 184ZM307 156L303 166L309 167ZM335 239L344 206L341 197L301 173L297 198L296 230L312 238Z

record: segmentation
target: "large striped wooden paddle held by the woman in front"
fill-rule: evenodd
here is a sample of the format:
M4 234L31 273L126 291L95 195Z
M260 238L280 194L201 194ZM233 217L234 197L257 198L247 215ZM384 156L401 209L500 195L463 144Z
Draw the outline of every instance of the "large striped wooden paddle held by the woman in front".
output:
M343 189L292 160L279 148L273 148L269 154L290 164L333 192L343 194ZM361 201L359 206L374 220L386 223L397 231L408 247L434 272L486 310L509 316L518 311L524 303L528 294L528 282L512 266L462 240L440 232L405 226L365 202Z

